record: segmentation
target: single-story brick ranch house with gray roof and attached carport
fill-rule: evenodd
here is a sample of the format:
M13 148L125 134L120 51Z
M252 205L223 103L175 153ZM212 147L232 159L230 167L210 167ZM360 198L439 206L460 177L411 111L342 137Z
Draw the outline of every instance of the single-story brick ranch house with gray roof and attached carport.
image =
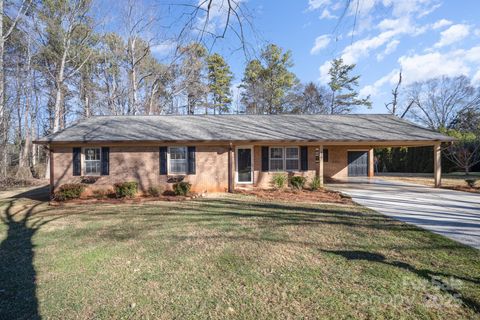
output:
M195 192L271 186L274 173L311 180L374 175L373 148L433 146L452 138L390 115L96 116L36 141L50 150L51 191L137 181L140 191L179 180ZM92 178L95 177L95 178ZM94 181L92 183L92 181Z

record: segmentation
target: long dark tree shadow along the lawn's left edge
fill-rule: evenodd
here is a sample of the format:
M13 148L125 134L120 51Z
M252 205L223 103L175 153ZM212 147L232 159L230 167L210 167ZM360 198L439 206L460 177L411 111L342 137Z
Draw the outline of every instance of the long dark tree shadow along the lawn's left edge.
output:
M42 195L27 192L15 198L28 198L29 194L37 199ZM43 195L40 198L43 199ZM41 318L32 238L42 226L59 218L38 217L45 211L37 208L41 204L22 203L12 198L0 209L0 222L7 228L6 238L0 244L0 319Z

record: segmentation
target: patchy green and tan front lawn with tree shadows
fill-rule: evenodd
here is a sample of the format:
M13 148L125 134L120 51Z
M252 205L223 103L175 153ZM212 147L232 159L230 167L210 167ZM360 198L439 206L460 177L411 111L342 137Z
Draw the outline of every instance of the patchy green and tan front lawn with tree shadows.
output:
M360 206L0 199L0 319L476 318L480 251Z

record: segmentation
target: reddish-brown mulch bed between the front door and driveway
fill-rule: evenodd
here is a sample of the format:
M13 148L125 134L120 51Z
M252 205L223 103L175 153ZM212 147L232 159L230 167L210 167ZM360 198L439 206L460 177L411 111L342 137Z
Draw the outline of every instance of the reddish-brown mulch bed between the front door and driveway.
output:
M322 202L354 204L352 199L340 192L327 189L311 190L237 190L236 193L255 196L260 199L285 201L285 202Z

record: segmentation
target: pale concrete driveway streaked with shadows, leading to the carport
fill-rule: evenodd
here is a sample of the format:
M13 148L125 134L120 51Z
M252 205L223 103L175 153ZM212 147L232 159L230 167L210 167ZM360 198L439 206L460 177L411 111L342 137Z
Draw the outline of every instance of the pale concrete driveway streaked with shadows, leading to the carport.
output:
M384 215L480 249L480 194L380 179L350 179L328 188Z

